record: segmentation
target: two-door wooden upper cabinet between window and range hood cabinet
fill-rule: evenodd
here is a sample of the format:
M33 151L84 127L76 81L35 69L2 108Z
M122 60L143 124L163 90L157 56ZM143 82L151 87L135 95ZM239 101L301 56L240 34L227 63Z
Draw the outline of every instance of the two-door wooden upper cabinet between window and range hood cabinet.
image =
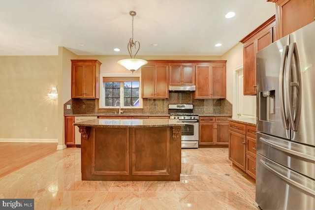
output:
M142 98L168 98L168 63L141 67Z

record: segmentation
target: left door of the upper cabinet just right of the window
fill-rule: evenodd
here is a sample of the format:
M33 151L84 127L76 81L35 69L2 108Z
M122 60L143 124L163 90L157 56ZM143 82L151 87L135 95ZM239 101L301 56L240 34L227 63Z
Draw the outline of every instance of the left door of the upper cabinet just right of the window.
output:
M142 98L155 96L155 66L141 67Z

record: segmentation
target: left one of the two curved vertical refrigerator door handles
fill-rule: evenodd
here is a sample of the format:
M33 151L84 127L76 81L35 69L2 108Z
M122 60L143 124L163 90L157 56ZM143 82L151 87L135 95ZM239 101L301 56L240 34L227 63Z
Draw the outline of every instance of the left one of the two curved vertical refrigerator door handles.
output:
M288 46L285 45L282 51L281 56L281 63L280 63L280 75L279 75L279 99L280 99L280 112L282 117L282 122L285 129L289 129L289 123L287 116L285 114L285 107L284 107L284 70L285 70L285 60L287 58Z

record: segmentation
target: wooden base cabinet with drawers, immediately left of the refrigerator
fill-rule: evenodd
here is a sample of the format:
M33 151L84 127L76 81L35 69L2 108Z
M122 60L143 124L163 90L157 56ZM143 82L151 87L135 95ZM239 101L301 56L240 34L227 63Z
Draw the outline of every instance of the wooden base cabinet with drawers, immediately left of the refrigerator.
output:
M229 122L229 160L256 179L256 126Z

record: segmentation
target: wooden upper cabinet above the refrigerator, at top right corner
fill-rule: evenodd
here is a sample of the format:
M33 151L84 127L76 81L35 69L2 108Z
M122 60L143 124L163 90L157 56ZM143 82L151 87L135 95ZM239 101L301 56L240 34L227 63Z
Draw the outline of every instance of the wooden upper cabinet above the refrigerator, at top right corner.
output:
M314 0L267 0L276 3L277 39L315 20Z

